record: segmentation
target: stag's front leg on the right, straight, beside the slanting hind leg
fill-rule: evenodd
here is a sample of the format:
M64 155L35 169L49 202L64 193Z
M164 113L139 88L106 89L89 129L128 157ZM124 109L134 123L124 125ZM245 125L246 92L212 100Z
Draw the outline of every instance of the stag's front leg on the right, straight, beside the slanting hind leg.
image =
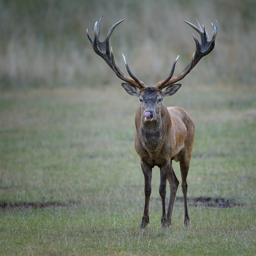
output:
M166 182L167 182L167 174L168 174L169 168L170 168L170 163L160 167L159 194L162 201L162 217L161 217L162 228L169 227L169 223L167 221L166 211L165 211Z

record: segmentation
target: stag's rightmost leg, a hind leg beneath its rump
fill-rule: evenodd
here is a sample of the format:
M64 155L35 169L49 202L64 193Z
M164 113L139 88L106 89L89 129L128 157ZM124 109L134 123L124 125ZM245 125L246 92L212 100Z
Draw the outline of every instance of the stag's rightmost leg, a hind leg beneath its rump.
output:
M185 216L184 216L184 225L188 227L190 225L190 220L188 217L188 204L187 204L187 191L188 191L188 184L187 184L187 175L189 170L189 161L186 161L185 159L180 159L180 172L182 177L182 193L184 198L184 210L185 210Z

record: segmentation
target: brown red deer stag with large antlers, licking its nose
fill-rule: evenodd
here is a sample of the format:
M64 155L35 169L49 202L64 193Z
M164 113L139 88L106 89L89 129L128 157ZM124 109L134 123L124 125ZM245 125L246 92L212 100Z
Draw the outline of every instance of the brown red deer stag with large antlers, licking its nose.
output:
M194 146L195 125L189 114L180 107L166 107L163 100L166 96L175 94L181 87L178 81L182 80L199 62L199 60L208 55L215 46L215 39L218 30L218 23L216 26L212 23L212 39L206 32L205 27L196 23L194 24L185 21L188 25L194 28L200 35L201 43L193 34L196 50L192 56L189 64L177 76L173 77L175 64L179 58L176 58L172 65L169 76L160 80L156 86L148 87L141 80L134 76L131 72L125 56L123 55L126 70L130 77L128 77L115 63L112 47L109 49L109 38L115 27L124 21L120 20L115 23L109 30L104 41L99 40L101 29L100 18L99 26L94 25L94 39L90 37L87 29L87 36L92 44L93 50L101 56L109 67L115 72L125 83L122 87L126 92L132 96L138 97L140 103L135 114L135 150L140 156L141 169L144 174L144 192L145 192L145 206L142 216L140 228L147 227L149 221L149 202L152 191L152 168L158 166L160 168L160 186L159 194L162 201L162 228L168 228L172 224L172 212L174 202L176 200L176 193L179 181L174 173L172 161L179 162L180 172L182 177L182 192L184 197L184 225L190 225L187 205L187 175ZM166 214L165 197L166 197L166 183L167 180L170 185L170 197L168 210Z

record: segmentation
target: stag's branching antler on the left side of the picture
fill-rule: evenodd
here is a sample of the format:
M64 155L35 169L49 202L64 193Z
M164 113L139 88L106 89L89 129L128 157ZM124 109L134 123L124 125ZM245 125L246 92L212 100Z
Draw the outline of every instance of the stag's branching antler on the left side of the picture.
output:
M106 36L106 39L101 42L99 40L99 35L100 35L100 27L101 27L101 19L102 19L102 16L100 18L100 22L99 22L99 26L98 26L98 31L97 31L97 23L95 23L94 25L94 40L91 39L91 37L89 36L89 33L88 33L88 29L86 30L87 32L87 36L92 44L92 47L93 47L93 50L100 56L102 57L106 63L110 66L110 68L112 70L114 70L114 72L116 73L116 75L122 79L123 81L127 82L127 83L130 83L132 85L134 85L135 87L137 87L138 89L144 89L146 86L145 84L140 81L137 77L135 77L133 75L133 73L131 72L126 60L125 60L125 57L123 55L123 58L124 58L124 62L125 62L125 66L126 66L126 69L127 69L127 72L128 74L130 75L130 77L126 76L126 74L115 64L115 60L114 60L114 55L113 55L113 51L112 51L112 47L111 47L111 52L109 51L109 38L112 34L112 32L114 31L115 27L120 24L121 22L124 21L123 20L120 20L119 22L115 23L111 29L109 30L109 33L107 34Z

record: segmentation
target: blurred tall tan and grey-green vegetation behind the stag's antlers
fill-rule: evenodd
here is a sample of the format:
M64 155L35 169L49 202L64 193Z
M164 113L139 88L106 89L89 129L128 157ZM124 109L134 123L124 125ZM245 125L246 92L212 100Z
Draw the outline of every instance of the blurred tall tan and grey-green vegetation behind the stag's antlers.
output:
M195 19L210 37L215 19L219 30L214 51L185 79L253 84L255 13L254 0L2 0L0 90L117 82L86 35L88 28L93 36L101 15L101 40L113 23L126 19L110 39L116 63L125 71L123 53L132 72L149 86L167 77L177 55L176 73L190 61L195 50L192 33L197 33L183 20Z

